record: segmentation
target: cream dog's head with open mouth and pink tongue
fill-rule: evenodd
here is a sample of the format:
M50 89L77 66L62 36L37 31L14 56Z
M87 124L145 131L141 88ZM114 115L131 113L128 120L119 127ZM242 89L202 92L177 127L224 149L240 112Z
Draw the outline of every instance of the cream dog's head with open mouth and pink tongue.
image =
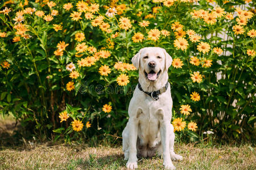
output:
M131 62L144 74L147 82L155 82L161 74L167 72L172 63L172 57L163 48L146 47L139 50Z

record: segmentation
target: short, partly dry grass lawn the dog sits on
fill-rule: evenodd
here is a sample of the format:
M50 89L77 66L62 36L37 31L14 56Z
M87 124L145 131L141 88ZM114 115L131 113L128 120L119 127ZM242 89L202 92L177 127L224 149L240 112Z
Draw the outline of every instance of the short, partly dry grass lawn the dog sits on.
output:
M184 158L177 169L256 169L255 147L175 145ZM2 147L0 169L126 169L121 147L26 145ZM138 159L138 169L163 169L163 160Z

